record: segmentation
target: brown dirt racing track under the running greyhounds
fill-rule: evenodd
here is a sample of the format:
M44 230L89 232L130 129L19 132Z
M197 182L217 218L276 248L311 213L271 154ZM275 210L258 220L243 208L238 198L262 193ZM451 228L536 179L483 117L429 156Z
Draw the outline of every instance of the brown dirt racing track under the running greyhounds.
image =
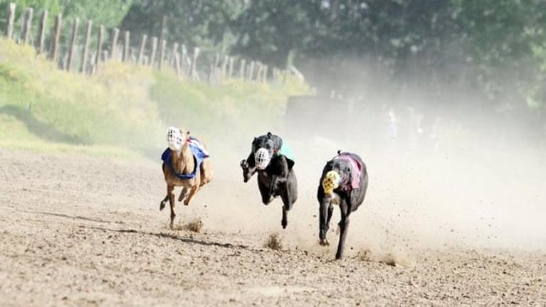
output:
M169 230L159 212L159 162L0 149L0 305L546 305L546 252L354 250L335 262L334 247L317 246L313 191L283 231L279 203L217 173L177 207L177 222L204 222L194 233ZM274 231L281 251L263 247ZM350 228L348 248L357 237Z

